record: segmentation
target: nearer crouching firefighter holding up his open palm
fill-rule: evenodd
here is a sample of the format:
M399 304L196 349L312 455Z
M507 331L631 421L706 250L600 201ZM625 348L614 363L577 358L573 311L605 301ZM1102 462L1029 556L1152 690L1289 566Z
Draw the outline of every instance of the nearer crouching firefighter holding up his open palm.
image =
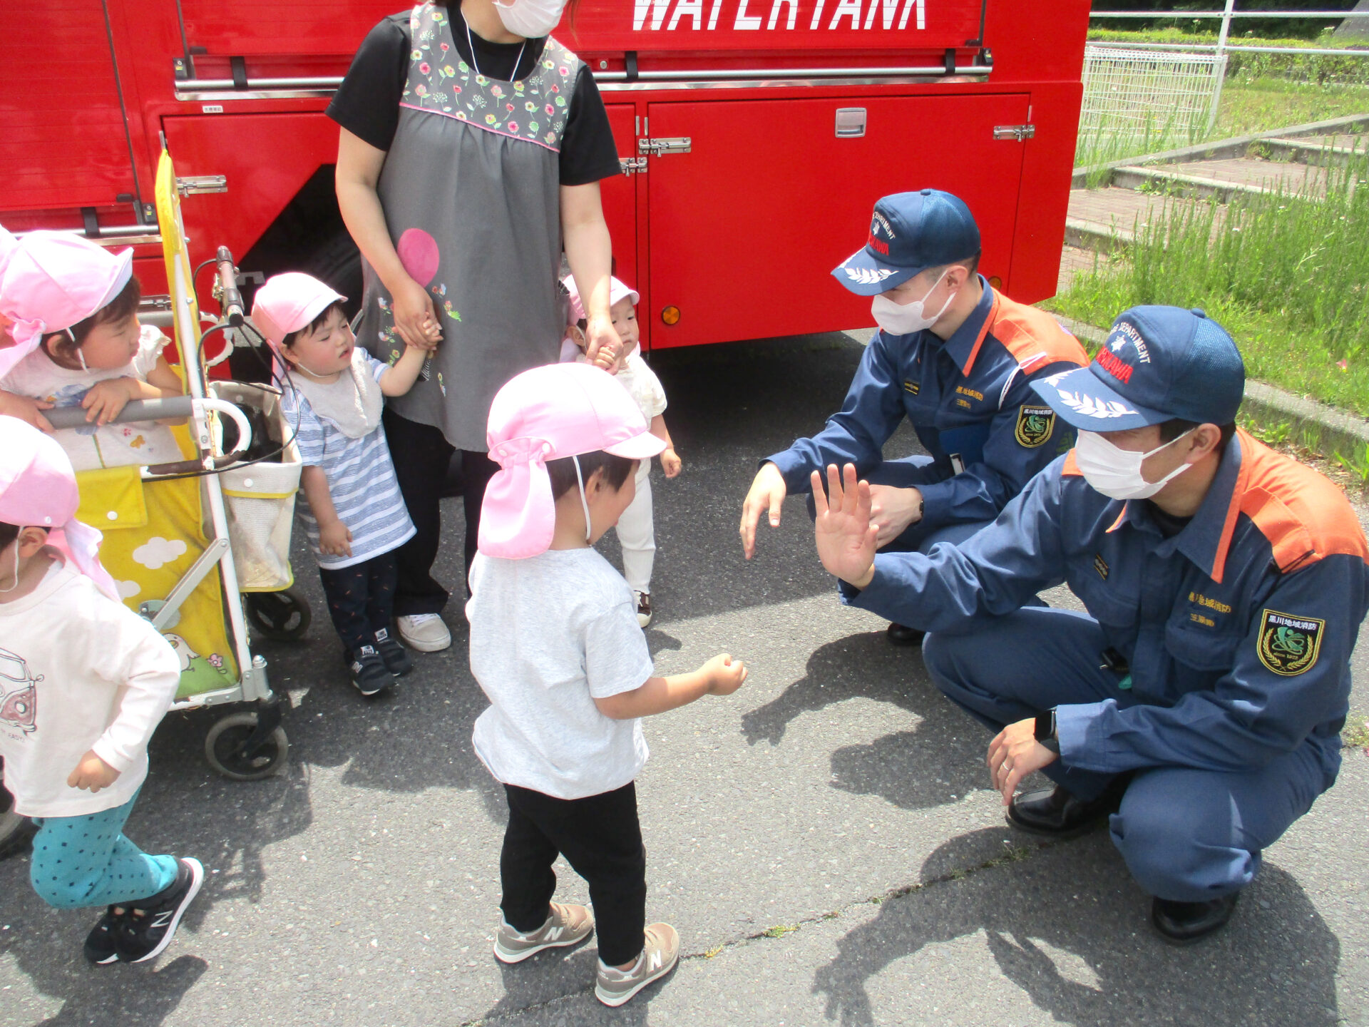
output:
M1201 311L1124 312L1035 389L1079 429L984 531L875 553L853 467L817 548L852 605L928 631L936 685L997 731L1019 828L1112 838L1168 941L1231 917L1261 850L1336 779L1369 548L1346 497L1235 429L1244 368ZM1087 616L1025 607L1068 582ZM1014 796L1042 770L1054 789Z

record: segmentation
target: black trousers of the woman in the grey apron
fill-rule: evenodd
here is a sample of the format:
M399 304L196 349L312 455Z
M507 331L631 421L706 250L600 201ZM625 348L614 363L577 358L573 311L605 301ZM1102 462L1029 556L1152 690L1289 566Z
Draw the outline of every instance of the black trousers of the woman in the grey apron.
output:
M442 435L441 429L419 424L385 411L385 438L394 461L394 478L400 483L404 505L409 509L415 534L396 550L400 582L394 593L394 613L441 613L450 593L433 578L442 541L442 514L439 500L446 485L446 467L456 449ZM490 457L475 449L461 451L461 475L465 479L461 500L465 505L465 574L470 578L471 560L481 530L481 503L485 486L500 470ZM467 587L470 594L470 587Z

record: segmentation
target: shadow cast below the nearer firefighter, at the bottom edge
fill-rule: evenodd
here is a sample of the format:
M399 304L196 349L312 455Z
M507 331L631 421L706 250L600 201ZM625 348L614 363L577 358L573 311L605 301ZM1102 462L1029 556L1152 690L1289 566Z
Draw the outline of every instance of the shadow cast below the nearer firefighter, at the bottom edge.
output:
M982 865L986 853L1001 854L1006 841L1008 828L956 838L927 859L921 880ZM1144 920L1147 912L1149 898L1099 831L884 902L873 920L838 942L813 991L827 996L830 1020L873 1024L871 978L930 946L983 931L1003 976L1060 1023L1339 1022L1340 943L1283 870L1266 863L1231 924L1191 948L1160 941ZM1057 960L1051 950L1068 957ZM1069 967L1079 961L1086 972ZM1071 974L1061 972L1061 963ZM1080 976L1091 980L1075 979Z

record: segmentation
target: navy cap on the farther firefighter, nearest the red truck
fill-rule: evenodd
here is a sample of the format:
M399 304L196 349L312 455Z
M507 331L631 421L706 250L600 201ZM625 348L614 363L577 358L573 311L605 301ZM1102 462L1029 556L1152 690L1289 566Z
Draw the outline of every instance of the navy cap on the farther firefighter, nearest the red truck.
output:
M928 267L979 255L979 226L965 201L941 189L894 193L875 204L869 240L832 274L857 296L876 296Z

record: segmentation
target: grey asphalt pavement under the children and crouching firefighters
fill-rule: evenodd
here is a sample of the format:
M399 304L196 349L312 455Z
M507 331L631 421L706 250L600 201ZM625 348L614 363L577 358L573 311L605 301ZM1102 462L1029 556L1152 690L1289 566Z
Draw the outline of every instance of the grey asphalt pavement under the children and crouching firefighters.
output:
M157 731L127 834L197 856L207 885L151 967L89 967L96 913L45 906L26 856L0 863L0 1023L1369 1024L1362 750L1265 853L1228 930L1173 949L1106 833L1040 845L1005 826L987 734L916 650L884 641L884 622L838 603L799 500L742 559L757 459L821 424L858 356L821 335L653 357L684 472L653 470L648 638L661 672L721 650L750 665L735 696L646 722L648 917L674 923L684 953L665 982L609 1011L593 997L593 938L494 960L505 811L471 749L485 701L460 603L453 648L367 701L300 550L318 619L301 642L259 646L292 700L286 772L216 776L205 713ZM890 442L914 448L906 431ZM450 585L461 527L452 501ZM612 538L602 548L617 559ZM1366 660L1361 645L1359 713ZM586 901L559 875L560 898Z

